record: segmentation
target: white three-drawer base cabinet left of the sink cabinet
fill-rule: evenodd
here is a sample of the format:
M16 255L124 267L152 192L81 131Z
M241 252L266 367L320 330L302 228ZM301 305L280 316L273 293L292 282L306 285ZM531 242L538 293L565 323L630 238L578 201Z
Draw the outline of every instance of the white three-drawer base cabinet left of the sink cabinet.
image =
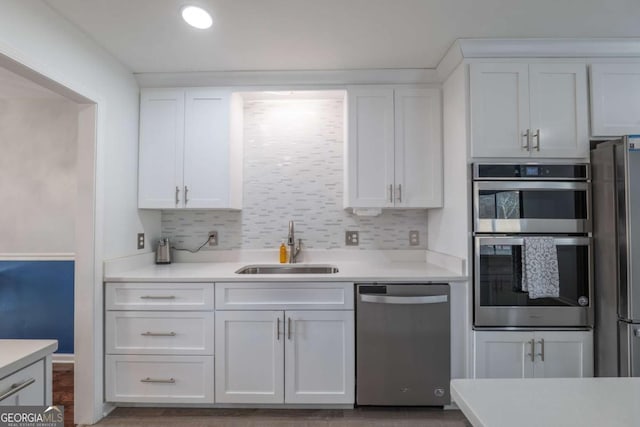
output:
M213 283L107 283L107 402L214 403Z

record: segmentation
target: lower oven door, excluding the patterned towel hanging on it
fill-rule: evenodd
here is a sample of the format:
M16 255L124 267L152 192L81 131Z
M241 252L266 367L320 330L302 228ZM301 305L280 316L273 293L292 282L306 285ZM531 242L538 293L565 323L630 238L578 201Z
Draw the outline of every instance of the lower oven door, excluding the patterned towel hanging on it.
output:
M522 236L477 236L474 246L474 325L584 327L593 325L590 237L555 237L560 296L529 298L520 290Z

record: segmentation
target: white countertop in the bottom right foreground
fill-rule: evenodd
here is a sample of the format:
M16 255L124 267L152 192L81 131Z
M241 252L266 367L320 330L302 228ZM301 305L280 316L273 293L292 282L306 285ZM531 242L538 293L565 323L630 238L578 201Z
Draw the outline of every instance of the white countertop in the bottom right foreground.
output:
M640 378L452 380L451 397L474 427L640 425Z

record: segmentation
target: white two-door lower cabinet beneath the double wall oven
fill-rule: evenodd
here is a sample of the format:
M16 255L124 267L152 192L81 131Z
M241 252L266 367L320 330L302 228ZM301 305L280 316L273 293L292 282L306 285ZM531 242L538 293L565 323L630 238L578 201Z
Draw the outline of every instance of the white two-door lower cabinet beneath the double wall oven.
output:
M475 378L593 376L591 331L474 331Z

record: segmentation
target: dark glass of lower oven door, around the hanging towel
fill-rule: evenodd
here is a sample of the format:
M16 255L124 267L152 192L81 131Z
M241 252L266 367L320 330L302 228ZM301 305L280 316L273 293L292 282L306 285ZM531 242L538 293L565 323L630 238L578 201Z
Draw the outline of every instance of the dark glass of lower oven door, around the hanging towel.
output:
M558 237L559 298L530 299L521 290L522 238L477 237L476 281L481 307L565 306L589 304L590 246L588 237Z

